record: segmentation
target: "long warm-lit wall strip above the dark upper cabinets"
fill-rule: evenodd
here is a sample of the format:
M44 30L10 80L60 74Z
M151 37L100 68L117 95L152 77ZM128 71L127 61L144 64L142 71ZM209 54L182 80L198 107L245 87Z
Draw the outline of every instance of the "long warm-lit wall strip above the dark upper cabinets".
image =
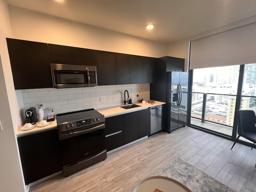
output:
M161 57L167 44L9 6L13 38L110 52Z

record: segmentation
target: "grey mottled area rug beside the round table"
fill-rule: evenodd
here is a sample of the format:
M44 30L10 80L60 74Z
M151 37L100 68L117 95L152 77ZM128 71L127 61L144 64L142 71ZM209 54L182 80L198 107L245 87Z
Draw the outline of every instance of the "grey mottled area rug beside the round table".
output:
M184 184L192 192L235 192L181 158L176 158L154 176L167 176Z

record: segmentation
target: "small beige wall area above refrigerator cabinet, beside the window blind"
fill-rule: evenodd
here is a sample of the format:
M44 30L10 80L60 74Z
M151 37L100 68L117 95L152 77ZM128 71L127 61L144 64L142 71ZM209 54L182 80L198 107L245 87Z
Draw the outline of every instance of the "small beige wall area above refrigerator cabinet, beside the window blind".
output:
M183 39L168 45L168 56L184 58L184 71L188 71L188 39Z

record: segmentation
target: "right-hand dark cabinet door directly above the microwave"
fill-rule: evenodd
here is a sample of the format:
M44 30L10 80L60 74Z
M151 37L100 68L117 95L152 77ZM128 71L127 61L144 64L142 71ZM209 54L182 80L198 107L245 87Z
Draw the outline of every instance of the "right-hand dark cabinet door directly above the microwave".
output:
M95 50L75 47L74 57L76 65L96 66Z

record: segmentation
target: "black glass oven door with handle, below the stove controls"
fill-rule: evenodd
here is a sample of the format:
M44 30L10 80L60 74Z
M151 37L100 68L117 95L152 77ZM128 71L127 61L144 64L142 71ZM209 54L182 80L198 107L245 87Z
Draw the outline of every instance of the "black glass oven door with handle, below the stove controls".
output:
M105 124L59 134L62 165L77 162L106 150Z

